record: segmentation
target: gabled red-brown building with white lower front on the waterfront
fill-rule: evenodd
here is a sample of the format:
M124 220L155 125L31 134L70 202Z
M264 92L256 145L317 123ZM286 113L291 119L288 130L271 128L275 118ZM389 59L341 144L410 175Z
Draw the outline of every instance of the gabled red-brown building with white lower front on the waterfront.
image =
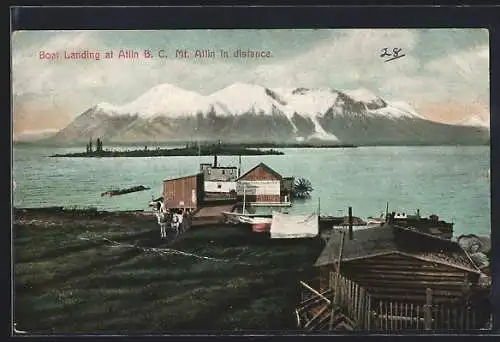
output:
M236 180L239 200L247 203L280 203L283 177L269 166L260 163Z

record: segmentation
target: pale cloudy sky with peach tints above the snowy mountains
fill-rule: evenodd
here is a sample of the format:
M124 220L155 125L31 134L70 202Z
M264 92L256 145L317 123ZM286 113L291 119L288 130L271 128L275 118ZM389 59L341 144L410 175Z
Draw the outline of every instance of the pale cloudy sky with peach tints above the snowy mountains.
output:
M383 48L405 57L384 62ZM116 58L120 49L151 59ZM159 50L169 58L158 57ZM257 60L176 59L176 49L268 50ZM64 51L115 58L65 60ZM58 60L40 51L59 52ZM441 122L489 121L489 37L482 29L24 31L12 35L14 134L60 129L99 103L125 104L171 83L210 94L234 82L266 87L367 88Z

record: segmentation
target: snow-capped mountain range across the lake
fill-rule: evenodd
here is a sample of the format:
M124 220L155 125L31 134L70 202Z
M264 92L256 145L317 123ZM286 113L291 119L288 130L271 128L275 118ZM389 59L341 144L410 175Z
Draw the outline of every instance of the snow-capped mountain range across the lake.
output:
M489 138L484 129L426 120L407 103L387 101L367 89L269 89L246 83L210 95L161 84L130 103L89 108L53 139L89 137L352 144L482 143Z

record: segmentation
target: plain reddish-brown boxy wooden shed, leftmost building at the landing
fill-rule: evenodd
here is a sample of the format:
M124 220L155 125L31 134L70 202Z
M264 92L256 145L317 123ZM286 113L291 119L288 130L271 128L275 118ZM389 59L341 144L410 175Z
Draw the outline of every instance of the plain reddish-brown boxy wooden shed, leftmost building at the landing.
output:
M163 181L167 209L197 209L204 199L203 173Z

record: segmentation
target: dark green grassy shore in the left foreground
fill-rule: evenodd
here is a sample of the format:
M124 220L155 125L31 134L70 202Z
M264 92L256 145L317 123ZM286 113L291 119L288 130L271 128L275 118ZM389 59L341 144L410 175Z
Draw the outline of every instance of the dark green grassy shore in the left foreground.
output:
M321 240L271 240L242 227L205 225L165 241L158 230L154 217L142 213L16 211L17 328L36 333L295 328L297 282L311 277ZM122 245L112 247L104 237Z

